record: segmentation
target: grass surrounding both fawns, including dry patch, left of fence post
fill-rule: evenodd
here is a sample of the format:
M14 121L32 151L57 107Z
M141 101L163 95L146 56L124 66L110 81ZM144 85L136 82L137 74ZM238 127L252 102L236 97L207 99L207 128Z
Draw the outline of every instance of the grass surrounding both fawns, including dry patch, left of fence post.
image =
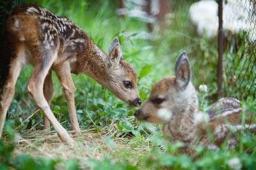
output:
M117 17L114 1L26 2L39 4L58 16L69 17L105 52L111 40L119 37L123 58L129 61L139 74L138 88L143 101L149 96L154 82L173 74L175 60L183 50L187 51L190 59L195 87L198 88L200 84L208 86L207 93L198 93L201 109L206 109L212 102L205 99L214 99L211 96L217 90L217 42L214 39L198 37L191 28L188 16L191 2L170 2L174 17L169 19L171 22L166 29L153 32L153 40L139 40L133 35L127 37L125 32L147 31L146 25L134 18ZM14 169L229 169L228 161L234 157L239 157L243 169L256 168L255 136L239 135L240 145L236 150L227 150L225 144L219 151L207 151L198 146L198 159L193 159L178 153L182 144L166 141L161 135L161 126L134 120L134 108L129 108L84 74L73 74L72 77L76 87L78 120L85 132L76 139L79 145L64 150L68 155L63 156L63 144L58 141L57 136L54 139L45 139L39 132L43 120L42 113L37 112L25 121L37 111L26 88L32 69L31 65L23 68L16 84L16 94L8 111L7 124L10 126L5 126L6 135L0 144L0 169L7 166ZM70 129L67 104L57 76L54 74L53 77L55 90L51 108L61 124ZM242 104L243 110L251 114L255 112L255 102L251 98ZM16 139L10 127L25 138L27 143L16 144L15 148L11 141ZM31 133L37 137L33 137ZM95 138L89 138L95 134ZM89 144L84 145L84 141Z

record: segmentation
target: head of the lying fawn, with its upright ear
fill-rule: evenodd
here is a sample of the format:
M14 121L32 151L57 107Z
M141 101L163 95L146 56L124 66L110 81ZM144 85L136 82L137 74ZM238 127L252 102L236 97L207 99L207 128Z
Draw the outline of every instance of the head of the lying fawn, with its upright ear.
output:
M190 81L190 67L186 52L176 61L175 76L165 77L152 87L149 99L135 112L138 120L164 123L178 114L188 112L189 105L197 105L196 90ZM197 106L196 106L197 107Z

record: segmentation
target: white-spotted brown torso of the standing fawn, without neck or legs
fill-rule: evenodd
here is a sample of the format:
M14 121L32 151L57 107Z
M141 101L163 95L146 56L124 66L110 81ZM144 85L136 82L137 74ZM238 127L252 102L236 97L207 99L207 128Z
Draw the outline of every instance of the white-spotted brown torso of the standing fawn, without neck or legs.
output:
M57 62L75 60L90 49L92 41L75 23L66 17L57 17L45 8L24 5L16 8L7 20L9 41L17 48L24 48L28 62L35 64L35 58L46 57L42 53L60 56ZM51 55L49 55L51 57Z

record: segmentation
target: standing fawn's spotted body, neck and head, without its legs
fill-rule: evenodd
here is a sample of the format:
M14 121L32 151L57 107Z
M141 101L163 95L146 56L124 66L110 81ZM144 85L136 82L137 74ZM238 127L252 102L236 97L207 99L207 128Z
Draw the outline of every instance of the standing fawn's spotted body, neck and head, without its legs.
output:
M35 5L16 8L7 20L7 31L13 57L20 56L23 65L46 67L52 60L51 69L60 70L68 62L72 73L86 73L131 106L141 103L136 71L123 60L117 38L106 55L70 19Z

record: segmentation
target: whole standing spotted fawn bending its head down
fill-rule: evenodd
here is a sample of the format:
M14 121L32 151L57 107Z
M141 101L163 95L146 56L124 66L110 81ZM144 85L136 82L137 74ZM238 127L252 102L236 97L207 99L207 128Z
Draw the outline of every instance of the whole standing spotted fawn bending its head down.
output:
M112 41L106 55L71 20L57 17L35 5L16 8L7 20L6 29L10 69L0 100L0 137L14 96L16 80L26 64L34 65L27 89L44 113L45 129L51 123L61 140L69 144L72 144L72 138L50 109L53 94L52 70L56 72L63 87L71 129L76 132L80 131L80 127L76 117L75 87L71 73L85 73L93 77L130 106L141 104L136 71L122 59L117 38Z

